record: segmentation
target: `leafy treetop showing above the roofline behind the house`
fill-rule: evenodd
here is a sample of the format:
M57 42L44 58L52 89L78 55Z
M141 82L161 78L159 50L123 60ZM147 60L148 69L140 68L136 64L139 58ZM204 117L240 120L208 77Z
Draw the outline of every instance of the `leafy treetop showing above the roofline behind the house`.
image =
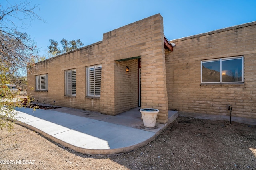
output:
M62 39L60 41L60 43L62 44L62 49L60 49L57 41L55 41L53 39L50 39L49 41L50 41L51 45L48 46L48 49L49 49L49 52L54 56L78 49L80 47L83 47L83 45L84 45L84 43L82 43L82 41L80 39L71 40L71 41Z

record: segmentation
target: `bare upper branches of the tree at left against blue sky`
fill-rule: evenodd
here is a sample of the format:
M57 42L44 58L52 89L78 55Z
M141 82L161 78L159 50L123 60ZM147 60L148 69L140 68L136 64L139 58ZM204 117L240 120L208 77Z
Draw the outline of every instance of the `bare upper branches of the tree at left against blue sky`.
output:
M21 74L37 57L36 43L26 33L18 31L30 26L32 20L42 20L31 2L0 5L0 61L9 67L9 74ZM39 9L39 8L38 8ZM24 74L24 73L22 73Z

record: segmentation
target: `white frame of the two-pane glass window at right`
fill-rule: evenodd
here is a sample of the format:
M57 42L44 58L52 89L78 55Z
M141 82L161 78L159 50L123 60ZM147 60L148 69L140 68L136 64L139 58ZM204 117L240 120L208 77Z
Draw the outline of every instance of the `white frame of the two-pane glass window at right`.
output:
M235 60L235 59L241 59L242 60L242 81L236 81L236 82L222 82L222 61L226 60ZM219 67L220 67L220 80L219 82L203 82L203 63L206 62L214 62L219 61ZM224 84L224 83L244 83L244 56L237 56L237 57L225 57L225 58L218 58L218 59L209 59L209 60L203 60L201 61L201 84Z

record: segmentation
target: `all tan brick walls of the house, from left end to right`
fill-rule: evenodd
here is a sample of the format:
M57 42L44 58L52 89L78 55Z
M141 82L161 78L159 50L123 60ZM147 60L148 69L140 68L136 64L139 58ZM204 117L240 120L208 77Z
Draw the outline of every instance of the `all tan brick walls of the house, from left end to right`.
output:
M183 116L256 122L256 22L176 39L164 49L160 14L103 34L103 40L36 64L28 72L28 93L35 102L117 115L138 106L168 109ZM167 30L168 31L168 30ZM171 31L171 30L170 30ZM244 56L244 83L201 84L201 61ZM88 97L86 68L102 65L100 97ZM130 68L129 72L125 67ZM76 69L76 96L65 96L65 70ZM35 90L35 76L48 74L48 91ZM54 103L55 101L55 103Z

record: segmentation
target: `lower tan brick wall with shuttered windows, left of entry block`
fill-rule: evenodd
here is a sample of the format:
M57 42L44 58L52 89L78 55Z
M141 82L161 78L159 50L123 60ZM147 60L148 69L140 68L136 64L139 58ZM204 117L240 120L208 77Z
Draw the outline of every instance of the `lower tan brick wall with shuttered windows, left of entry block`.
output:
M28 94L35 102L100 111L100 99L86 97L86 67L101 64L102 42L36 64L28 73ZM76 96L65 96L65 70L76 69ZM35 76L48 74L48 91L35 91ZM55 101L55 103L54 103Z

